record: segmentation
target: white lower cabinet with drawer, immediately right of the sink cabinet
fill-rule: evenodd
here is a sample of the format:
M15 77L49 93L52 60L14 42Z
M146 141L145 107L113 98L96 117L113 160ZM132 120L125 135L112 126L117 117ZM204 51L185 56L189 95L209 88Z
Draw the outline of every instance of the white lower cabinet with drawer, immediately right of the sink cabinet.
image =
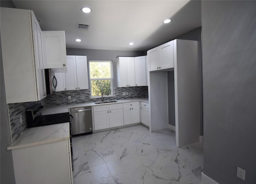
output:
M124 125L140 122L139 102L124 103Z

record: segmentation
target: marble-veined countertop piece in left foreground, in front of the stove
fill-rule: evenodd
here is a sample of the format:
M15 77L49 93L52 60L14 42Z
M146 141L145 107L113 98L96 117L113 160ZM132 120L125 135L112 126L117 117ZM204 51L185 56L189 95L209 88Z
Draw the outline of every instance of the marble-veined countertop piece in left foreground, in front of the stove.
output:
M69 122L26 128L21 136L14 142L14 144L9 146L7 150L68 140L70 138L69 128Z

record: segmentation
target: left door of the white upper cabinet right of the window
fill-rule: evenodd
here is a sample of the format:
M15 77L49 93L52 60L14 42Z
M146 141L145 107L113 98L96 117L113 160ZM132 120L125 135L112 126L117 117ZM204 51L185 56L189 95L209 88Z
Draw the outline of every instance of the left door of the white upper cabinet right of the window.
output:
M118 87L126 87L128 86L127 82L127 70L126 70L126 58L119 57L117 61L117 73L118 73Z

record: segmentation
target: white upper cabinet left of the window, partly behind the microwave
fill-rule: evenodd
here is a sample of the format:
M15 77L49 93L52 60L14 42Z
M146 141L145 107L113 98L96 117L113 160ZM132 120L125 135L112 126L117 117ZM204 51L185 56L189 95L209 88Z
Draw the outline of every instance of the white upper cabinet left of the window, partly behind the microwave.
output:
M67 56L67 72L52 69L56 77L56 91L89 89L87 56Z

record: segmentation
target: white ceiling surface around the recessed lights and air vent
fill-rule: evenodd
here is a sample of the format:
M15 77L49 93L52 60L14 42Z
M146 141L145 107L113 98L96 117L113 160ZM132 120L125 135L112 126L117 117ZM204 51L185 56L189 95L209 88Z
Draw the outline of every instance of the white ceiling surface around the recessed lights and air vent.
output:
M146 51L201 26L200 1L13 0L46 30L64 30L67 48ZM92 8L85 14L82 7ZM162 21L170 18L169 24ZM77 23L89 30L76 29ZM75 39L80 38L81 42ZM133 46L129 43L134 42Z

